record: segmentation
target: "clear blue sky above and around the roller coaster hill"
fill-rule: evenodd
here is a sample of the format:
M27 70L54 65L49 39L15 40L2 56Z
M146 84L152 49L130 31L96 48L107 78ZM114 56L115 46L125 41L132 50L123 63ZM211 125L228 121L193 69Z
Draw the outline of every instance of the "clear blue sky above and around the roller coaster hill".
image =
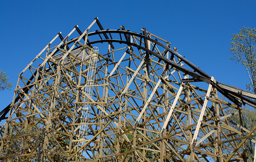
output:
M245 89L244 67L230 61L232 34L256 27L255 1L1 1L0 70L16 85L19 74L58 33L75 25L84 31L95 17L104 29L121 25L147 31L172 43L178 53L219 82ZM0 91L0 110L11 103L14 87Z

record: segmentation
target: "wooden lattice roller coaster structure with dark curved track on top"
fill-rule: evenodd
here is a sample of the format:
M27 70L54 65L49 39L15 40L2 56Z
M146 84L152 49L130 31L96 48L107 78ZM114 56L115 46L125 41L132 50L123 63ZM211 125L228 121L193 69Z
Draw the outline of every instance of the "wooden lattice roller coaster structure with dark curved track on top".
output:
M99 31L89 32L94 23ZM75 31L80 36L69 39ZM123 26L103 30L95 18L83 33L75 26L65 38L56 35L19 74L14 99L0 112L5 121L1 156L95 162L224 162L253 156L246 155L243 144L255 143L249 138L256 136L256 126L243 127L241 106L256 108L256 95L217 82L172 50L171 43L145 28L142 32ZM53 46L58 37L61 42ZM101 43L107 46L99 47L94 85L87 85L92 45ZM85 91L89 86L92 97ZM85 104L90 112L83 122ZM235 112L226 114L230 108ZM230 120L232 115L240 116L240 122ZM31 123L38 126L39 143L30 134L18 136L20 152L8 151L11 136ZM79 139L84 125L86 138Z

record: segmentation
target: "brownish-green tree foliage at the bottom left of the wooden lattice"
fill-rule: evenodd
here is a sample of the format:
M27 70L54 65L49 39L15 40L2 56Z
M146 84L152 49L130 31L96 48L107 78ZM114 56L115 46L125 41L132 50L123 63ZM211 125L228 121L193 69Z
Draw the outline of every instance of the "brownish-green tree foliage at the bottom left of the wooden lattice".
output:
M49 159L40 159L40 154L47 154L54 162L67 161L69 155L61 151L60 146L53 142L53 135L50 136L49 140L50 143L54 144L54 147L50 150L42 148L45 137L44 129L41 124L30 123L26 128L18 127L15 130L9 130L12 135L7 138L8 146L5 148L4 154L0 156L0 161L50 162ZM69 140L65 140L65 142L69 143ZM37 155L29 154L30 151L33 153L33 150L38 150Z

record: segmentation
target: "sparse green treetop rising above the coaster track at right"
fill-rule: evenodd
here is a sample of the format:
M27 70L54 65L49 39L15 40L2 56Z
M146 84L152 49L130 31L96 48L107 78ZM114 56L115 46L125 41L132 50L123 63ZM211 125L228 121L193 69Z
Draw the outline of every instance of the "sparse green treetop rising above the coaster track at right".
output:
M231 60L241 62L245 67L250 82L246 84L249 91L256 93L256 30L243 27L238 34L232 34L230 52Z

